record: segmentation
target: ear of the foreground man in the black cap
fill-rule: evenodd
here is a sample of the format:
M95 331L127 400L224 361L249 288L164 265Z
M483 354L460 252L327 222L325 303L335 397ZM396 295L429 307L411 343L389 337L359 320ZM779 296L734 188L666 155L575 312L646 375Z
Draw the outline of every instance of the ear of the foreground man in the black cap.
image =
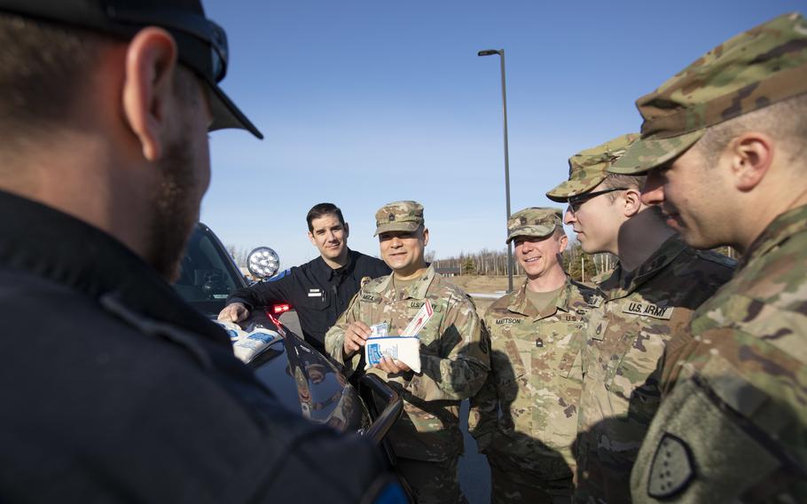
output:
M122 83L123 115L140 142L143 157L162 157L171 122L176 43L161 28L145 28L126 49Z

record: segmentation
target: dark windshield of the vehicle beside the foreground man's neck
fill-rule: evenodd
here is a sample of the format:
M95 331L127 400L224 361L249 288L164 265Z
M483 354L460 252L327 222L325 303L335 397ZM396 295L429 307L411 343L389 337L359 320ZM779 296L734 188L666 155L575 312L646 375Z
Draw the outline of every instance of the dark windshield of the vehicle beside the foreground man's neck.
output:
M208 317L218 315L224 301L245 282L213 232L199 224L182 258L182 272L174 283L179 295Z

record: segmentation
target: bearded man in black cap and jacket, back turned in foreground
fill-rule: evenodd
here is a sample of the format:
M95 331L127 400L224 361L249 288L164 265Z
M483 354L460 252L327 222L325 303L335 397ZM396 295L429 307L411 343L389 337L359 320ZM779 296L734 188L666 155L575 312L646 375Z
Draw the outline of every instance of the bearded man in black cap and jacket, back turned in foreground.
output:
M2 0L0 46L0 500L381 492L372 446L284 413L166 281L208 129L260 136L216 84L221 28L192 0Z

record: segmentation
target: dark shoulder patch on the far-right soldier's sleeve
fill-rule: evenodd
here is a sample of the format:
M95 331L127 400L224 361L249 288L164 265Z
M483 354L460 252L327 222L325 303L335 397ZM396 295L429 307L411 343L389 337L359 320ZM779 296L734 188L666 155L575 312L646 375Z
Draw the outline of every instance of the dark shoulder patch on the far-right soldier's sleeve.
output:
M672 497L686 490L695 477L692 451L680 437L665 433L650 464L647 495L654 499Z

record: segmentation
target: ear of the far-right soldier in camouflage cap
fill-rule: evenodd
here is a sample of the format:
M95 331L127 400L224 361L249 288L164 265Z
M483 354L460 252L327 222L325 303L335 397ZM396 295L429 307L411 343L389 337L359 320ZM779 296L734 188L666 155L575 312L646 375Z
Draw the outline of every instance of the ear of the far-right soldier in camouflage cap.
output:
M771 168L774 142L764 133L748 131L734 138L721 156L731 162L734 186L742 192L756 187ZM719 165L718 165L719 166Z

